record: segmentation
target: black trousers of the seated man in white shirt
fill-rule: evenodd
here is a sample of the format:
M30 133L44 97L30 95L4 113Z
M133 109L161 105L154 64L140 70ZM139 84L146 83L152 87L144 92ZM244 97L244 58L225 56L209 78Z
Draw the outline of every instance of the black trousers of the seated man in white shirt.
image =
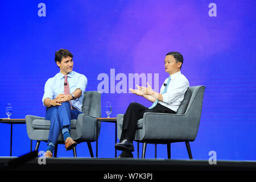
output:
M148 109L148 107L145 107L137 102L131 102L131 104L128 106L126 110L126 113L123 115L123 128L120 141L122 141L125 138L129 140L134 139L135 131L137 128L137 121L143 118L144 113L176 114L175 111L159 103L152 109Z

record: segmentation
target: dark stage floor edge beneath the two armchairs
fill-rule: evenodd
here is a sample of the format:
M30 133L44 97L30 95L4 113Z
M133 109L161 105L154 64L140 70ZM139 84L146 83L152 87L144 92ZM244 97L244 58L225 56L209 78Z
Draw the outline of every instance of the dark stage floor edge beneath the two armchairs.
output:
M174 159L107 159L107 158L34 158L0 157L1 169L8 170L75 170L75 171L180 171L180 170L250 170L256 171L255 161ZM27 162L25 162L27 161ZM42 164L39 164L42 163ZM44 164L45 163L45 164Z

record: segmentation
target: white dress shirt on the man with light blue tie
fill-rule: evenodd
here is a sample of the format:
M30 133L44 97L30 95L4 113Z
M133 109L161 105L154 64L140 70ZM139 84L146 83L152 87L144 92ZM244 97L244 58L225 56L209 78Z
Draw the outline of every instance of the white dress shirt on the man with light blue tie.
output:
M168 78L164 81L166 84ZM161 86L160 93L164 90L164 85ZM171 75L171 81L168 85L167 92L162 94L163 101L159 101L159 104L168 107L173 111L177 111L181 101L184 99L184 94L189 87L188 79L181 74L181 72Z

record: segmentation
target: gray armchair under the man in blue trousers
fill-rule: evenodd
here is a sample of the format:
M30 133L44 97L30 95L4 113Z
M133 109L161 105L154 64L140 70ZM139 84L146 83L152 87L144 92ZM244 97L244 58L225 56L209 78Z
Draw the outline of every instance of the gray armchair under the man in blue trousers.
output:
M98 122L98 133L96 134L96 118L101 117L101 93L97 91L85 92L82 103L82 113L77 119L71 120L71 137L77 143L87 142L90 156L93 158L93 151L90 142L96 141L100 135L101 123ZM39 148L40 141L47 142L49 135L50 121L44 117L26 115L27 135L31 140L36 140L35 150ZM57 144L64 144L63 135L60 132ZM57 144L54 156L57 156ZM73 155L76 157L76 147L73 148Z

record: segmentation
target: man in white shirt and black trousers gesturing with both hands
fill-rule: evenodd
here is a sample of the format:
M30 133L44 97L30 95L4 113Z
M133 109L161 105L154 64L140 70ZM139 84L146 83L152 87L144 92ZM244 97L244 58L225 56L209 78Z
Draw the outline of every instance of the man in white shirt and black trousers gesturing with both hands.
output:
M167 53L164 59L164 67L169 77L164 81L160 93L154 92L148 83L147 87L136 85L138 89L130 89L137 96L142 96L154 103L149 108L137 102L132 102L128 106L126 113L123 115L120 142L115 143L115 148L122 151L118 158L133 158L131 152L134 151L133 139L137 121L143 118L144 113L176 114L189 86L187 78L180 72L182 64L183 56L179 52Z

